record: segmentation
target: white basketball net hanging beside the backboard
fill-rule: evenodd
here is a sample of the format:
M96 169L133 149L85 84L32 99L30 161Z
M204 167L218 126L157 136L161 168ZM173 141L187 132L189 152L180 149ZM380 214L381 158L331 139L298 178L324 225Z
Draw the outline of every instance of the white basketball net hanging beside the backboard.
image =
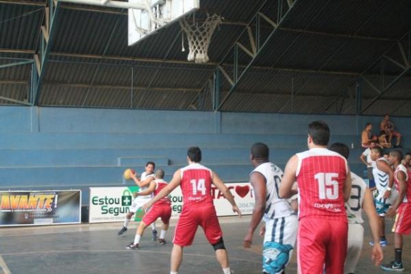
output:
M212 16L207 14L206 21L201 25L195 22L195 18L192 19L192 22L186 21L185 18L179 21L188 40L188 49L190 50L187 56L188 61L195 61L197 64L208 62L207 52L211 36L216 27L222 23L222 19L223 17L217 14L213 14ZM185 51L184 37L182 51Z

